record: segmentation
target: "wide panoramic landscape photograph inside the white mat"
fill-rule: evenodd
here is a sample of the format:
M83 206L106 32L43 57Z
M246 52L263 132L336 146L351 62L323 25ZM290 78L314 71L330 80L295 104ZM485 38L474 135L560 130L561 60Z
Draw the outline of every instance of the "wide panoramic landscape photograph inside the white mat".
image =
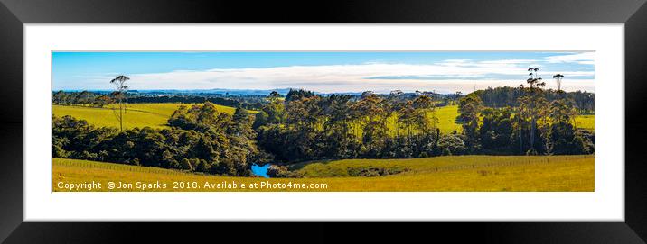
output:
M594 192L594 51L52 52L53 192Z

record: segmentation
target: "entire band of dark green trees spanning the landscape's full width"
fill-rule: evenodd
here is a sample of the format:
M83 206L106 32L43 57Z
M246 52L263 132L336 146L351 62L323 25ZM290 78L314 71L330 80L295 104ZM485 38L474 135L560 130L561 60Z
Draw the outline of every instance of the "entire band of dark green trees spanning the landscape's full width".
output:
M400 91L389 95L317 95L291 89L263 103L194 96L126 96L127 103L183 105L171 129L96 128L70 116L53 117L53 157L80 158L205 174L249 176L251 164L314 159L427 158L440 155L570 155L594 153L594 132L575 117L594 113L594 95L527 86L469 95ZM114 103L111 95L56 92L54 104ZM233 115L213 104L236 107ZM441 133L436 109L458 104L462 132ZM252 115L248 109L258 110Z

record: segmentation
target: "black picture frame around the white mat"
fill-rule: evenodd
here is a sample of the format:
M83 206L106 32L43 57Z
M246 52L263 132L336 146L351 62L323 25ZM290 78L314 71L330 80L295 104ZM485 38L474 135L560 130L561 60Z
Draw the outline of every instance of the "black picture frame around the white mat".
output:
M0 241L7 243L124 242L128 237L171 240L204 225L23 222L23 23L624 23L625 221L601 223L434 224L437 236L498 243L644 243L647 239L647 5L645 0L454 0L454 1L167 1L0 0ZM476 40L477 38L475 38ZM49 81L47 81L49 82ZM391 227L363 226L385 239ZM213 227L208 227L213 230ZM238 224L219 232L248 237ZM280 227L284 228L284 227ZM331 224L285 227L292 240L364 239L356 228ZM426 227L427 229L427 227ZM164 230L173 230L168 232ZM455 230L470 234L457 234ZM277 230L278 231L278 230ZM281 231L279 231L280 233ZM162 233L162 234L160 234ZM171 233L178 233L173 235ZM400 240L428 235L406 227ZM267 235L267 238L271 234ZM259 236L263 239L263 236ZM345 239L348 240L348 239ZM310 241L308 241L310 242ZM312 241L314 242L314 241Z

